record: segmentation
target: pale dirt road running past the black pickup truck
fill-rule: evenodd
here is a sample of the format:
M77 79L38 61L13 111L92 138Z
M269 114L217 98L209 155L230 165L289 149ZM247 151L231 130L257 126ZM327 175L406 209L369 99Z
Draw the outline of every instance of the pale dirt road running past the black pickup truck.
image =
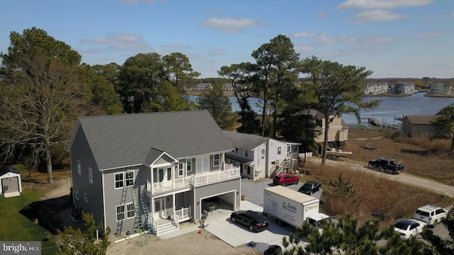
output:
M321 158L318 157L308 157L306 160L309 162L316 162L318 164L321 163ZM356 171L367 171L367 173L375 174L377 176L392 180L392 181L397 181L399 183L404 183L406 185L411 185L411 186L416 186L419 188L424 188L428 191L433 191L434 193L447 196L449 198L454 198L454 186L449 186L444 183L439 183L437 181L432 181L429 179L425 179L420 176L414 176L411 174L406 174L406 173L401 173L401 174L384 174L380 173L378 171L373 171L371 169L367 169L365 166L363 166L362 162L354 162L354 161L345 161L345 162L339 162L339 161L333 161L330 159L326 159L326 164L331 164L333 166L346 166L350 169L354 169ZM449 180L447 183L453 183L454 180Z

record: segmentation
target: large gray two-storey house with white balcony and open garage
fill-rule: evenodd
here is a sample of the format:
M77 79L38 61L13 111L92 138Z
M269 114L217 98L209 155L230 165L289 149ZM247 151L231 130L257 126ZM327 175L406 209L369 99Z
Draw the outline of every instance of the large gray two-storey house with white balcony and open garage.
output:
M224 162L233 149L208 111L81 117L67 148L74 207L117 235L239 210L240 171Z

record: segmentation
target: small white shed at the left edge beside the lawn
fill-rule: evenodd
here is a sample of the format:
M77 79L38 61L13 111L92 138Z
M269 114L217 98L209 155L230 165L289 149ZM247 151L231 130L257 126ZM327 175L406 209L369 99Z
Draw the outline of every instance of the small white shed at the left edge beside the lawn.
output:
M11 166L0 168L0 195L5 198L21 196L21 174Z

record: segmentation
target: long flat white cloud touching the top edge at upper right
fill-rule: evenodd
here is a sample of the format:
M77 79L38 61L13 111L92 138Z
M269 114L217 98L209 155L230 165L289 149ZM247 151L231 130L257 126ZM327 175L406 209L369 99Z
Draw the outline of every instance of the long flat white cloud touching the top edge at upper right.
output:
M347 9L391 9L401 7L425 6L433 4L435 0L347 0L336 8L338 10Z

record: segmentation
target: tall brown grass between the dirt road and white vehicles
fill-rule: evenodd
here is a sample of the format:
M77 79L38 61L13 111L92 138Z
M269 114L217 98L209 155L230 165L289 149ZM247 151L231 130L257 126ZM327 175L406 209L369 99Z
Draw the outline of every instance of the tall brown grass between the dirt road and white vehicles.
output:
M365 170L346 169L342 166L319 166L306 163L312 174L323 184L325 209L330 215L353 215L370 218L372 212L385 215L392 221L410 217L416 208L426 204L445 205L444 196L421 188L389 181Z

